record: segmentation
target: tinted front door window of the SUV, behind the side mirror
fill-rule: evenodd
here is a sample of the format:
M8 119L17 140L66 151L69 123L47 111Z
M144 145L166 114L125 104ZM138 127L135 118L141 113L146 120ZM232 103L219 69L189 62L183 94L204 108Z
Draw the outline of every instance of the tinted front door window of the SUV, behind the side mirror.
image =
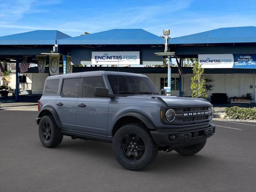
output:
M94 97L95 87L105 87L102 77L84 78L82 97Z

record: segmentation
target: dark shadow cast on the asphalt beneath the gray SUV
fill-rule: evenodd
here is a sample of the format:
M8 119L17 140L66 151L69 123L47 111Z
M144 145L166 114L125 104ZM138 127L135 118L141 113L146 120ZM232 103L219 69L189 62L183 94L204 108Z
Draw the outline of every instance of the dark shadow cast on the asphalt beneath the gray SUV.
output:
M63 142L56 149L65 152L67 155L72 153L79 154L82 158L100 159L105 166L126 170L122 168L114 158L111 143L80 139L71 140L64 137ZM217 159L212 155L209 156L209 153L205 153L206 151L207 149L202 149L201 152L194 156L182 156L175 151L168 153L159 151L154 162L140 170L140 172L169 173L170 170L172 170L172 172L179 172L180 170L186 171L186 169L191 171L191 168L192 170L209 169ZM220 162L220 160L218 161ZM228 165L228 162L220 163Z

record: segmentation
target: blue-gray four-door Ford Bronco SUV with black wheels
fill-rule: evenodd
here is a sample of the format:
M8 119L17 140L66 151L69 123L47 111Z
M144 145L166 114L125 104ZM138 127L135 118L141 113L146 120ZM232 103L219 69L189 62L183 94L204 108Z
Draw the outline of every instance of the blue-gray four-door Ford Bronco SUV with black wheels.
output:
M159 150L196 154L215 132L210 102L161 95L142 74L49 76L38 110L36 123L45 147L58 146L64 135L112 142L116 160L130 170L150 164Z

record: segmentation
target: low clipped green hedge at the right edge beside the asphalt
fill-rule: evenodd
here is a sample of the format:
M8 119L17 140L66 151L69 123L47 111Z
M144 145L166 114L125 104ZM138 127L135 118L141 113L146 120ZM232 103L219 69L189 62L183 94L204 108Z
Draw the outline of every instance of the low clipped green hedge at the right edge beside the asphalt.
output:
M256 120L256 107L244 108L232 106L226 108L224 118L227 119L241 119L241 120Z

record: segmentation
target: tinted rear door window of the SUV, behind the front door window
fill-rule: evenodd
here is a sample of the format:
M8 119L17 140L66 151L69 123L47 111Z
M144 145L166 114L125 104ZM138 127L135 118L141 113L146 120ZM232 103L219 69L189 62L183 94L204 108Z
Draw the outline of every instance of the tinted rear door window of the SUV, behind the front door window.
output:
M78 97L80 78L64 79L62 97Z

